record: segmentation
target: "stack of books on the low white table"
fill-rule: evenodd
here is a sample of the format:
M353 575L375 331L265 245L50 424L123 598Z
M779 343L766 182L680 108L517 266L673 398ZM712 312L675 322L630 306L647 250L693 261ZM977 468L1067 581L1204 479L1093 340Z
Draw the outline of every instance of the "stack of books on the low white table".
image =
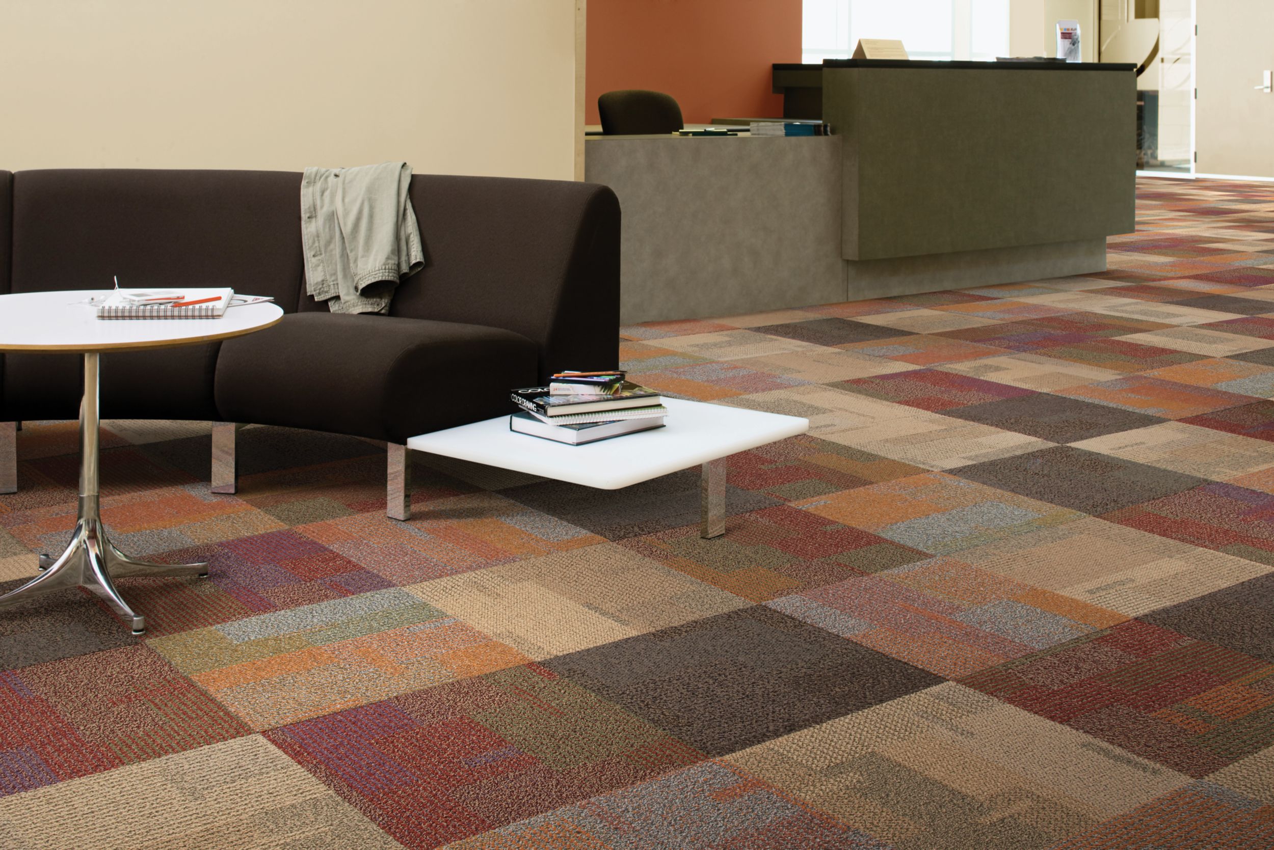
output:
M512 398L521 410L508 417L511 431L571 445L661 428L668 415L657 392L623 372L561 372Z

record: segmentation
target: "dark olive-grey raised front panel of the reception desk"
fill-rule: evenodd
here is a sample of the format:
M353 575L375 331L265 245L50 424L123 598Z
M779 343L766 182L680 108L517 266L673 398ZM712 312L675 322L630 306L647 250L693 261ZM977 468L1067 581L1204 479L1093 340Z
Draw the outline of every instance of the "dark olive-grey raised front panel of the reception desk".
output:
M845 139L843 256L882 260L1133 230L1129 70L823 69Z

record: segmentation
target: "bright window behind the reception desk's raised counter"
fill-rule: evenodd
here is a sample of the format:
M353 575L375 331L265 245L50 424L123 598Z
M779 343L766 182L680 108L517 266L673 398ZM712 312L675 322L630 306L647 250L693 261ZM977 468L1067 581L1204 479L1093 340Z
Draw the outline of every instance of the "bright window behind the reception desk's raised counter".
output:
M860 38L897 38L912 59L1009 53L1009 0L805 0L805 62L846 59Z

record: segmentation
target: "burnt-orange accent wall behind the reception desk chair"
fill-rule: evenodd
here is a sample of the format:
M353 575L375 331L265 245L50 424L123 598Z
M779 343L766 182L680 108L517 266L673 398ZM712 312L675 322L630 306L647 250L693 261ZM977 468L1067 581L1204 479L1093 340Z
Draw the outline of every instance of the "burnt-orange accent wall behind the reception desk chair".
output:
M585 123L598 95L666 92L687 123L784 113L773 62L799 62L801 0L589 0Z

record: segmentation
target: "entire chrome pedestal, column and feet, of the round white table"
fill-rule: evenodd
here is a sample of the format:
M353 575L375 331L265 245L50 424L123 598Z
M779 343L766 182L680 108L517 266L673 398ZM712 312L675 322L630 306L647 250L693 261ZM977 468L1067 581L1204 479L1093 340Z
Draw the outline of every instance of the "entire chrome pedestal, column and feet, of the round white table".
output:
M125 622L132 634L147 630L147 618L139 616L116 590L113 578L126 575L208 575L208 564L149 564L129 557L106 536L98 499L98 355L84 355L84 400L80 402L80 482L79 512L75 533L66 551L54 559L39 556L41 574L20 588L0 597L0 608L28 597L61 588L88 588L99 596Z

